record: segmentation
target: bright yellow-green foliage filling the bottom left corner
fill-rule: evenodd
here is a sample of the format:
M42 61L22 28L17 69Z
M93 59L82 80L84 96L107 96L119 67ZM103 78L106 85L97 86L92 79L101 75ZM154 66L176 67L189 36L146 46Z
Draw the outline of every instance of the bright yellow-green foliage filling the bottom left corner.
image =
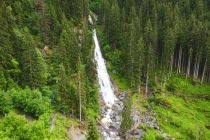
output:
M4 139L44 139L49 135L43 121L29 122L24 116L9 113L0 121L0 137Z

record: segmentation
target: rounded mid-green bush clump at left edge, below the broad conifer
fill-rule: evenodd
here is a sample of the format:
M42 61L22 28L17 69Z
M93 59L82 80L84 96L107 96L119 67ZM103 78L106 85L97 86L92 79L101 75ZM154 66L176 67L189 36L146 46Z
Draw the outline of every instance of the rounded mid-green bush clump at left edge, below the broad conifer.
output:
M51 111L51 101L44 97L38 90L10 90L0 93L0 113L8 113L12 108L19 109L25 113L38 118L44 113Z

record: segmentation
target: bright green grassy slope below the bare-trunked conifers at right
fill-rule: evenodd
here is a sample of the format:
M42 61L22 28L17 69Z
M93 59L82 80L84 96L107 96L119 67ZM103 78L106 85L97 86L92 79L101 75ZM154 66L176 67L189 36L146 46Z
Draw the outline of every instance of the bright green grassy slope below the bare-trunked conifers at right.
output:
M173 93L165 90L151 99L160 128L176 139L210 139L210 101L198 96L209 96L210 86L193 86L182 77L169 83L175 87Z

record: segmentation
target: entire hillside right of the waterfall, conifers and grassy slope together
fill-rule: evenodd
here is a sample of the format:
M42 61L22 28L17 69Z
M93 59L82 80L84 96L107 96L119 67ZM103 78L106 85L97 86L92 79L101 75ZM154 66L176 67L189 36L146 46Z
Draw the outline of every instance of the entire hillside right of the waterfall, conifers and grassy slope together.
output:
M110 74L131 92L123 136L132 130L136 139L209 139L210 1L94 4Z

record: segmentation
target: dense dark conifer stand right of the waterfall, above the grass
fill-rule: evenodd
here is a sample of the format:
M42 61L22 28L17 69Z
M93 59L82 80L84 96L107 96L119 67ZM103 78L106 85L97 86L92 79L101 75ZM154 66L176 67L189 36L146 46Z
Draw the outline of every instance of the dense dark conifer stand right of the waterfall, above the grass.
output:
M208 0L101 0L94 10L113 67L139 89L157 72L163 84L174 73L210 80ZM110 8L111 7L111 8ZM157 71L159 70L159 71ZM156 72L156 73L155 73Z

